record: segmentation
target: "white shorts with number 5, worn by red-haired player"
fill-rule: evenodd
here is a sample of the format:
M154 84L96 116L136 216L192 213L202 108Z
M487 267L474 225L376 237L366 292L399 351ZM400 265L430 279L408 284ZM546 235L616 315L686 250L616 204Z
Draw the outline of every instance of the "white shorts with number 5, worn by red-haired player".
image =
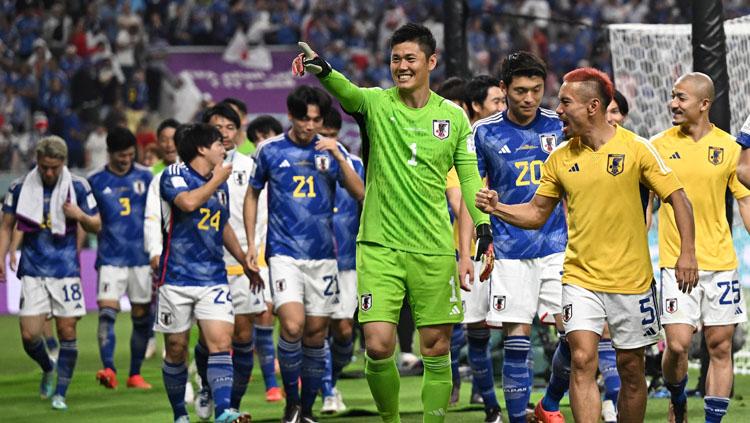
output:
M607 323L615 348L640 348L659 341L661 322L653 283L643 294L612 294L565 284L562 300L565 333L588 330L601 336Z

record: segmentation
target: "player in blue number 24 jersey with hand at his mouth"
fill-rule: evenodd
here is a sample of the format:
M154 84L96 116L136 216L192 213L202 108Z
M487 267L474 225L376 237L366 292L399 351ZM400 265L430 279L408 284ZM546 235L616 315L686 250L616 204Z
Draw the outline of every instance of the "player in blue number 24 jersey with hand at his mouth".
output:
M159 308L154 329L164 333L166 356L162 377L175 422L187 422L185 384L187 346L193 319L208 349L207 377L215 404L215 421L246 422L249 416L230 408L233 386L229 354L234 311L227 286L223 248L242 263L244 252L230 225L226 180L232 164L223 163L221 133L207 124L181 126L177 151L182 164L170 165L161 178L166 232L159 261ZM253 288L262 282L247 267Z

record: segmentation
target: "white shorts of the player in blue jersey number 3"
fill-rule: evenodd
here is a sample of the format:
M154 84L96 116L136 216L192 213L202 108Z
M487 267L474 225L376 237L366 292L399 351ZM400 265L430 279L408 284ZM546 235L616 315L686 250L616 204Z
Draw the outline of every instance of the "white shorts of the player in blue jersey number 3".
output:
M151 303L150 266L109 266L99 267L99 283L96 299L119 301L125 293L133 304Z

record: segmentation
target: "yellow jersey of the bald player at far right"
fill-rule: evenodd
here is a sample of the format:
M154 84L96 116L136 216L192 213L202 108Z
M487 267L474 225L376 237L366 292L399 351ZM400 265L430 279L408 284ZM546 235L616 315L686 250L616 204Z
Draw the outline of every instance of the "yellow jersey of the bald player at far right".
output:
M735 171L740 146L733 136L714 127L698 141L675 126L651 143L685 186L695 216L695 254L700 270L732 270L737 255L726 219L727 187L735 198L750 195ZM680 234L669 204L659 209L659 266L672 268L680 255Z

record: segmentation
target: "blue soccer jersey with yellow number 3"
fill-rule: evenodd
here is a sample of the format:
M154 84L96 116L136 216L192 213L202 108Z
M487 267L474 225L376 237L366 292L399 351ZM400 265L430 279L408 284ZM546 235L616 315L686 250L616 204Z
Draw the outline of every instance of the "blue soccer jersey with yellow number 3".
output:
M148 254L143 249L143 219L146 192L151 171L134 164L128 173L118 176L107 166L89 174L91 190L102 217L96 267L145 266Z

